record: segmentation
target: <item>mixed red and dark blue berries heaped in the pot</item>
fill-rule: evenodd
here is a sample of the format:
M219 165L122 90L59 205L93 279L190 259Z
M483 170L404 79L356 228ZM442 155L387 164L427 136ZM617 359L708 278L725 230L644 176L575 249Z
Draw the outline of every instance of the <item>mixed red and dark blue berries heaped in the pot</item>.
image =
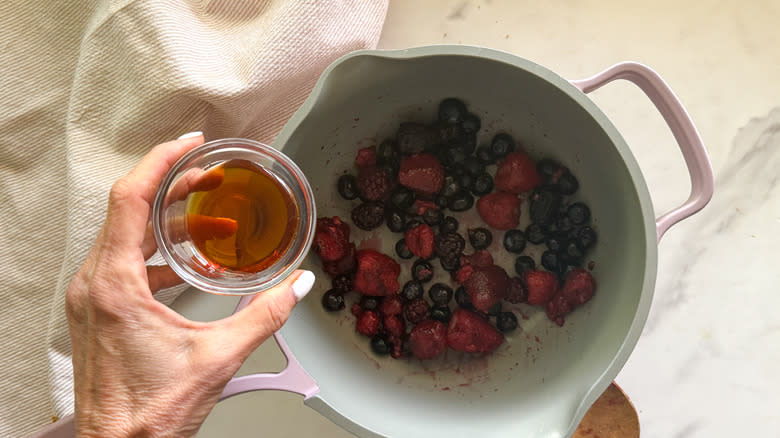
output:
M519 327L511 304L540 306L563 325L595 292L582 266L597 233L589 207L569 199L576 177L553 159L535 161L506 133L477 145L480 127L463 101L444 99L436 122L402 123L394 138L357 151L356 172L339 176L352 224L396 233L393 254L358 250L339 217L317 220L312 250L332 279L322 305L341 311L357 293L355 329L377 355L489 353ZM452 213L475 207L482 223L460 230ZM524 228L521 209L531 219ZM514 266L495 264L491 251L512 254ZM398 260L409 260L403 284ZM437 271L448 280L432 281Z

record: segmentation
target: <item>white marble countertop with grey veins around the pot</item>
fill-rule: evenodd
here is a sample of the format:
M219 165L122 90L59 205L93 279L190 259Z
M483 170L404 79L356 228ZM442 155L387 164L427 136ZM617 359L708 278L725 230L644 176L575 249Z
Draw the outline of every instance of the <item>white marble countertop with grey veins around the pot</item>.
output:
M569 79L636 60L666 79L696 122L715 169L715 198L664 237L650 317L617 378L644 437L780 430L778 22L777 1L391 1L381 48L483 45ZM593 99L631 146L657 212L681 203L687 172L650 102L621 83ZM226 311L232 305L222 303ZM244 369L282 365L267 343ZM349 436L285 393L223 402L200 434L256 435Z

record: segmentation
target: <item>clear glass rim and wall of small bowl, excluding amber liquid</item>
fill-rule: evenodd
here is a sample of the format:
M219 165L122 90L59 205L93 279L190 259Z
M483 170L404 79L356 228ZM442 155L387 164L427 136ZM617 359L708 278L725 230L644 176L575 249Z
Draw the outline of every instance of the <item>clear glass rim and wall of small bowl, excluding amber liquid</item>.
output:
M298 225L287 250L279 260L258 272L213 263L197 248L188 230L192 176L231 160L246 160L265 169L286 186L297 206ZM181 157L161 183L152 208L154 238L168 265L192 286L221 295L253 294L284 280L308 254L316 218L314 193L301 169L278 150L243 138L210 141Z

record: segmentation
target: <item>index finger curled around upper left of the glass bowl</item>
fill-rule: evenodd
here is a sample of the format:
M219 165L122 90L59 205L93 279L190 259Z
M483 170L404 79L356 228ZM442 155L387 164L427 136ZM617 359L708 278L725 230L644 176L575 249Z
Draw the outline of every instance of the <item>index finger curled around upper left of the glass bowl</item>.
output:
M199 134L155 146L127 176L111 187L106 239L117 249L138 249L161 180L182 155L203 143Z

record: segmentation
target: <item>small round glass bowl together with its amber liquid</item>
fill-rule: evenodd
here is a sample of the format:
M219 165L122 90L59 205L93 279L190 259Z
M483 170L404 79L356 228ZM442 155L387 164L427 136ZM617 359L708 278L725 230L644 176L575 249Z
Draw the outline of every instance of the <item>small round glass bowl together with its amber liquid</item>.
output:
M316 218L300 168L242 138L210 141L181 157L152 208L168 265L192 286L222 295L253 294L284 280L309 252Z

